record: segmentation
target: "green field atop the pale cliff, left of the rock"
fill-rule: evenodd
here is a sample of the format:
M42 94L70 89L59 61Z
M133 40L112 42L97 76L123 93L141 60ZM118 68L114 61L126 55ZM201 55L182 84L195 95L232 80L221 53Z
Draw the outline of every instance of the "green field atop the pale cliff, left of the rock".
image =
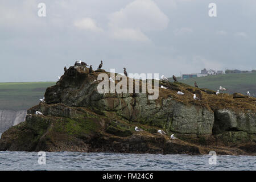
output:
M26 110L38 104L44 92L55 82L0 83L0 109Z

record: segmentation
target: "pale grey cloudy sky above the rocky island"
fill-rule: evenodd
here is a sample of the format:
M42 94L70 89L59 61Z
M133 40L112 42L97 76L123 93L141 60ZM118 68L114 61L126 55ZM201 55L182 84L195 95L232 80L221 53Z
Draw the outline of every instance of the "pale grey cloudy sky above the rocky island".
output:
M251 71L255 40L255 0L0 0L0 82L57 81L76 60L166 77Z

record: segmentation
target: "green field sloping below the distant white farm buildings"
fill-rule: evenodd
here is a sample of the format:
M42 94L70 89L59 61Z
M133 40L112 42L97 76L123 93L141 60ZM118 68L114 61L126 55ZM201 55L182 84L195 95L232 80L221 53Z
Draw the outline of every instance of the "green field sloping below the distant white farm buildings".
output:
M172 78L170 80L173 81ZM256 73L230 73L178 81L192 86L194 86L194 82L196 81L199 88L208 88L215 91L222 86L228 89L225 93L229 94L235 92L246 94L249 91L251 96L256 96Z

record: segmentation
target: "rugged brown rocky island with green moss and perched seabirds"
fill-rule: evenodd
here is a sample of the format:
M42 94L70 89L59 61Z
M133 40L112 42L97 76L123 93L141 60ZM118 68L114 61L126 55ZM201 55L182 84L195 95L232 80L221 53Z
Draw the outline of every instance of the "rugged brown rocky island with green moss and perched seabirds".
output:
M2 134L0 150L256 155L256 98L169 81L159 81L156 100L148 93L101 94L100 73L110 76L84 65L65 70L45 102Z

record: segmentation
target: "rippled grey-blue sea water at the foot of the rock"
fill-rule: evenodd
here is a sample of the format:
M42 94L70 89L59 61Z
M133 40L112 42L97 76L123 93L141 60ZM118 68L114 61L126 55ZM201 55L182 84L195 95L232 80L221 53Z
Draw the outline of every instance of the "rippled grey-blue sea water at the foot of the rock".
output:
M256 156L114 154L46 152L39 164L38 152L0 151L0 170L256 170Z

